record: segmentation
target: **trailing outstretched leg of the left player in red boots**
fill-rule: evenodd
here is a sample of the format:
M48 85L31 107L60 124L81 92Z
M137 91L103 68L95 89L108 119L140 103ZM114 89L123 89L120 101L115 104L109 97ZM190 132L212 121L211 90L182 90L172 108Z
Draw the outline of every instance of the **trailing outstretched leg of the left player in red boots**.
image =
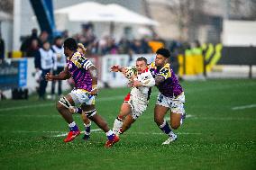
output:
M114 135L112 130L109 129L106 121L99 114L96 114L95 104L92 104L92 105L83 104L81 108L83 112L86 113L87 118L89 118L91 121L94 121L101 130L105 131L105 135L108 139L105 143L106 148L112 147L114 143L119 141L119 138L116 135Z

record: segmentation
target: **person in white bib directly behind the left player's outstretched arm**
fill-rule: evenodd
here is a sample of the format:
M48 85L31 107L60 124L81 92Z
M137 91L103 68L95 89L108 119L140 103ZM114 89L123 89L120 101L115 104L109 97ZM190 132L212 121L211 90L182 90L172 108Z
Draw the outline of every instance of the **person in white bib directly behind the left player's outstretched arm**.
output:
M54 44L51 46L52 51L55 54L55 62L56 62L56 70L53 70L53 75L59 75L61 71L63 71L66 65L66 57L63 49L63 40L60 36L54 39ZM58 95L62 94L62 86L61 80L58 81ZM51 83L51 99L55 99L55 86L56 81L52 81Z

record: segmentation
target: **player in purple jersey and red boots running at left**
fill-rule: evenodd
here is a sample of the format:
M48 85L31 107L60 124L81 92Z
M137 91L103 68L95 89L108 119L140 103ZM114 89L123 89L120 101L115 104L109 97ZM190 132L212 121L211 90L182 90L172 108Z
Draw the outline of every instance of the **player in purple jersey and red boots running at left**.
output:
M69 111L70 106L81 104L82 112L87 115L91 121L105 131L107 141L106 148L110 148L119 138L114 135L113 131L108 128L105 120L96 114L95 95L97 90L97 70L90 60L78 52L78 43L72 38L64 41L64 53L67 59L67 66L59 75L46 75L47 80L65 80L72 77L75 82L75 88L68 95L61 97L57 103L57 110L62 117L69 123L69 134L64 142L75 139L79 134L78 126L73 120L72 113Z

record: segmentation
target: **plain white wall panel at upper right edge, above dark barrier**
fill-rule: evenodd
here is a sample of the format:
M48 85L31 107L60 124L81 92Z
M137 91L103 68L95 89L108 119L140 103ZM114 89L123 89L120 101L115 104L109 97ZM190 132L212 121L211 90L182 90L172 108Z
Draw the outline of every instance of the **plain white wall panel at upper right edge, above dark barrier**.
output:
M224 46L256 46L256 21L224 21Z

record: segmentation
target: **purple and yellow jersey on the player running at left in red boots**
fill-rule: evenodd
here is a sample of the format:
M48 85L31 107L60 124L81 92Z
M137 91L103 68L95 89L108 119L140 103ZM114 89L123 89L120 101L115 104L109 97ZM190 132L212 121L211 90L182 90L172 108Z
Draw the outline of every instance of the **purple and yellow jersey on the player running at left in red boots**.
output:
M71 59L67 59L69 74L75 82L75 88L92 90L92 77L88 71L89 67L94 66L90 60L85 58L80 52L75 52Z

